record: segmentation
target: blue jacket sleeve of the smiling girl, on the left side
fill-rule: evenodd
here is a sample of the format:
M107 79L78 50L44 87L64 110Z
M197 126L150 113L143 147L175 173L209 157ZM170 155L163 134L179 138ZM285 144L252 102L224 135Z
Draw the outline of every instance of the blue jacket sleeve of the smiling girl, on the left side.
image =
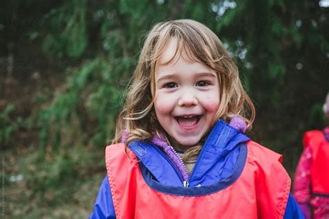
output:
M99 193L97 195L94 210L90 214L90 219L109 219L115 218L115 207L113 206L112 193L108 176L103 179Z

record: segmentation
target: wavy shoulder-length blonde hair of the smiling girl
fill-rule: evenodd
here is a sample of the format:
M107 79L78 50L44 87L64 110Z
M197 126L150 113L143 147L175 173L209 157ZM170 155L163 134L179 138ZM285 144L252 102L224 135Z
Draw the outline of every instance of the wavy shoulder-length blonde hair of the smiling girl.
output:
M251 129L255 107L242 87L239 71L228 51L217 35L205 25L180 19L156 24L147 35L132 82L126 90L126 103L117 119L113 143L121 141L124 130L128 132L126 146L135 140L147 141L153 133L165 134L153 107L155 65L167 42L173 37L178 40L175 55L183 51L187 58L202 62L218 75L220 104L212 124L218 119L229 121L233 116L240 116L246 121L248 130ZM198 145L189 148L185 157L198 154L201 147L202 145Z

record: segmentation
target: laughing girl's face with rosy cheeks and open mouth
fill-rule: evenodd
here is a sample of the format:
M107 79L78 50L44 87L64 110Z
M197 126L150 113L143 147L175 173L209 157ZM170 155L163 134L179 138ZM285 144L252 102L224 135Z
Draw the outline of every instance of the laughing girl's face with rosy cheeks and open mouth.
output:
M219 80L205 64L187 61L184 53L171 60L176 46L171 39L155 67L155 114L172 146L194 146L210 130L219 108Z

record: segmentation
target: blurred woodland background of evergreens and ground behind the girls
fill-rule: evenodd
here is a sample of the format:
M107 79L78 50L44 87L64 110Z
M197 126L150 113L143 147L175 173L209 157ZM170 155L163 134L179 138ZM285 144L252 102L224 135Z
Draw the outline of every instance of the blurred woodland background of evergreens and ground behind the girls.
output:
M216 33L256 107L255 141L294 177L303 133L328 121L329 1L4 1L3 218L87 218L144 37L189 18Z

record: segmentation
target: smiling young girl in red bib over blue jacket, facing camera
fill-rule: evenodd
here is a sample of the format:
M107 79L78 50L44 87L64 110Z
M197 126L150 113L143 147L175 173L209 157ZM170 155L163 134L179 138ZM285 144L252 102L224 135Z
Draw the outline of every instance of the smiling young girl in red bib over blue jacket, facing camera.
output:
M155 25L90 218L303 218L281 155L243 134L254 111L210 29Z

